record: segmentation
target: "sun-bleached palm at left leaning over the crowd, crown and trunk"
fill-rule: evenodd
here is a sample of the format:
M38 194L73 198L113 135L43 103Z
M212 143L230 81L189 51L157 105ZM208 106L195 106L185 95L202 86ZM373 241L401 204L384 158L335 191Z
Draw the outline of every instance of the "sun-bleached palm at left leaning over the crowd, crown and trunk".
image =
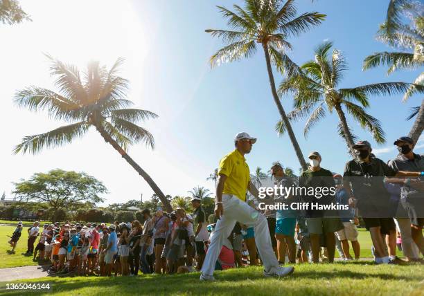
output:
M127 100L128 81L118 76L118 67L123 59L118 59L107 71L98 62L91 62L81 79L76 66L64 64L53 57L51 75L56 77L55 86L59 92L30 86L17 91L15 103L31 111L47 110L51 118L72 122L53 131L23 138L15 147L14 153L31 152L72 142L94 127L105 142L116 151L142 176L160 198L167 211L171 211L169 201L152 178L127 154L127 148L135 142L154 148L152 134L136 123L157 115L141 109L127 109L132 105Z

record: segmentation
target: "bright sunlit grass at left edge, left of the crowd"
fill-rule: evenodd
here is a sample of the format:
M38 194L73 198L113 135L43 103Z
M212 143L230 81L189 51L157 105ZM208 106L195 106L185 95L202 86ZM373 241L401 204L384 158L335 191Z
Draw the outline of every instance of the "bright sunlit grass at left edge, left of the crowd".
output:
M22 253L26 252L26 241L28 239L28 232L26 232L28 228L26 227L22 230L21 238L15 248L15 254L8 252L12 250L12 247L8 243L10 237L7 236L12 236L15 228L15 226L0 226L0 268L38 265L37 261L33 261L32 256L27 257L22 255ZM37 242L35 242L34 246L36 246Z

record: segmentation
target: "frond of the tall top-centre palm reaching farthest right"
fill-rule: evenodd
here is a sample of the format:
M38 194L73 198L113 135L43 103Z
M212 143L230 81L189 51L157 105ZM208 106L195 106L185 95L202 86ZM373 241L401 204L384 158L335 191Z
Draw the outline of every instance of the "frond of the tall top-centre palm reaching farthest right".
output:
M319 26L326 19L326 15L319 12L306 12L292 21L281 24L279 31L287 36L299 36L313 26Z

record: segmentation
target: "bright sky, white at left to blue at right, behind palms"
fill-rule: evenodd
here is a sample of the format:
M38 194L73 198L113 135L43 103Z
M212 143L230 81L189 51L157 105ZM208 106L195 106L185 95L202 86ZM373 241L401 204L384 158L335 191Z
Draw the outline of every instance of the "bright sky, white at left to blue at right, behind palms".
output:
M59 2L59 3L58 3ZM247 131L256 136L247 161L253 171L267 170L275 160L297 171L298 160L287 136L279 137L274 125L279 120L272 100L263 52L251 59L224 64L211 69L209 57L222 46L219 39L204 33L206 28L227 28L215 5L230 8L242 1L21 1L33 22L0 27L3 44L0 90L5 107L0 123L6 129L0 148L1 163L8 169L0 172L0 191L10 194L12 181L28 178L48 169L85 171L105 183L107 203L152 195L147 184L95 131L71 145L46 150L37 156L12 156L19 140L28 134L41 133L63 122L49 120L45 113L17 109L13 93L30 84L53 88L48 62L42 53L72 62L81 68L90 59L110 65L125 57L123 77L130 80L130 99L136 107L159 115L146 122L156 139L156 149L142 145L130 149L130 155L152 176L165 194L186 195L195 185L213 189L206 177L220 158L233 149L233 136ZM324 40L333 41L347 58L340 87L375 82L412 82L418 71L399 71L389 77L386 68L362 71L367 55L390 50L376 41L378 24L385 19L386 0L375 1L297 1L298 12L318 11L326 21L309 33L290 39L290 57L302 64L312 59L313 48ZM366 4L366 5L365 5ZM54 26L52 26L54 24ZM274 71L276 82L282 80ZM409 132L413 122L405 121L409 109L421 103L415 96L401 102L402 95L371 98L369 113L382 122L387 143L376 145L371 136L352 120L355 134L370 140L378 157L396 156L394 139ZM283 98L286 111L292 100ZM293 125L299 145L306 156L317 150L322 166L342 172L348 160L346 145L335 132L337 116L329 114L303 137L304 121ZM421 142L420 142L421 143ZM421 144L418 146L423 146ZM416 150L423 153L423 147ZM0 192L1 193L1 192Z

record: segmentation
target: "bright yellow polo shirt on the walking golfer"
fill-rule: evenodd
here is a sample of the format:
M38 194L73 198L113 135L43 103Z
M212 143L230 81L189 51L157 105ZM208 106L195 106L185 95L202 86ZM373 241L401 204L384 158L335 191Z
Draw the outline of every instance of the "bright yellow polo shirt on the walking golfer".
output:
M242 201L246 201L250 171L245 157L237 149L221 159L218 174L227 176L222 193L233 194Z

